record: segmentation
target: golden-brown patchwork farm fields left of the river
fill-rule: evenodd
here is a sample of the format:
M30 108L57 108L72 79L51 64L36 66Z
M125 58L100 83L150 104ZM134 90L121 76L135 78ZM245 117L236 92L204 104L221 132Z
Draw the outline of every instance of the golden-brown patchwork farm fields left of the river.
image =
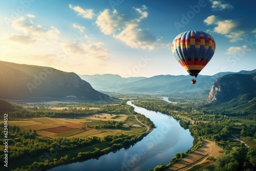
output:
M128 119L129 118L129 119ZM120 129L93 129L95 125L106 124L108 121L122 122ZM146 130L146 127L138 122L133 115L96 114L77 118L50 118L38 117L9 121L10 125L17 125L25 130L36 130L39 136L57 138L73 138L83 136L104 137L117 134L138 134ZM132 126L136 125L136 126ZM139 126L137 126L139 125Z

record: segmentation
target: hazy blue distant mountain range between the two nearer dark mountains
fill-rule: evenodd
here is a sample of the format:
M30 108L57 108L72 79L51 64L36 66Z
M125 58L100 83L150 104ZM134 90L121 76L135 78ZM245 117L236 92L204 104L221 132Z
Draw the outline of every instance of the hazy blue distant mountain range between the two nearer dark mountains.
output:
M240 74L247 74L251 71L240 71ZM169 94L172 96L199 97L206 98L212 83L215 79L234 72L220 72L212 76L199 75L197 83L191 84L189 75L157 75L147 77L128 77L123 78L119 75L79 75L87 80L92 86L101 92L119 92L119 93L158 93Z

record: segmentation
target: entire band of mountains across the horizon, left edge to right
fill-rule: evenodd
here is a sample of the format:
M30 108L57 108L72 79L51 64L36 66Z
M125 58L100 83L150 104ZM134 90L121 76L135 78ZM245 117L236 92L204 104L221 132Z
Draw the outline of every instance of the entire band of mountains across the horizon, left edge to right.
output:
M225 101L240 94L254 96L255 73L256 70L199 75L197 83L191 84L192 77L189 75L157 75L149 78L123 78L114 74L77 75L50 67L0 61L0 98L99 101L111 100L107 95L109 93L154 93L207 98L207 102Z

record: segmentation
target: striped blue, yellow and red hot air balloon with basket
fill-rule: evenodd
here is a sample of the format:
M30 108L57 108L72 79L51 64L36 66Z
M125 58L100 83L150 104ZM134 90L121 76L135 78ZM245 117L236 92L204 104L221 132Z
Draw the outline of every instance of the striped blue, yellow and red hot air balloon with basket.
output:
M199 72L207 65L215 52L215 40L203 31L186 31L175 37L172 51L180 65L194 76L196 83Z

